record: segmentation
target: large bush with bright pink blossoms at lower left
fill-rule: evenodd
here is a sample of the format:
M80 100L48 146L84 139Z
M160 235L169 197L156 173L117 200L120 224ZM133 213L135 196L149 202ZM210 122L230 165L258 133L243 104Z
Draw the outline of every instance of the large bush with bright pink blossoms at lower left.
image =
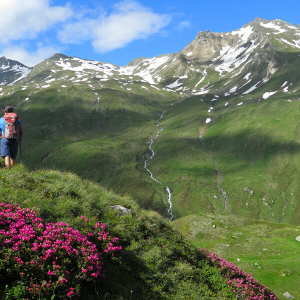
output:
M80 297L83 284L103 276L103 255L121 249L103 223L82 230L65 222L44 223L29 208L0 203L0 282L5 299Z

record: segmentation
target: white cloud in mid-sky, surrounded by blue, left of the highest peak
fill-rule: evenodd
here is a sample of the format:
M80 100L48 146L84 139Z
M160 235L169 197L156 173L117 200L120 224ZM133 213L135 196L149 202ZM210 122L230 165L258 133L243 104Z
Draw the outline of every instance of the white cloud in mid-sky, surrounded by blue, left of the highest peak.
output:
M105 52L157 33L169 22L169 15L152 12L137 1L127 0L116 3L109 15L65 25L58 37L64 43L91 40L95 50Z

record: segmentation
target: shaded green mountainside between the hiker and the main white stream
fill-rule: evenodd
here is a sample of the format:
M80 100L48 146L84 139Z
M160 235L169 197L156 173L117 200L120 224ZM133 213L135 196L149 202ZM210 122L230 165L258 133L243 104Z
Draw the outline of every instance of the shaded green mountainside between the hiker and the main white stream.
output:
M167 92L156 89L149 93L140 88L135 94L75 84L38 91L15 88L0 97L0 105L16 106L28 167L71 170L119 194L129 193L144 207L165 210L164 191L153 188L143 175L143 155L156 133L159 112L179 96L165 97Z

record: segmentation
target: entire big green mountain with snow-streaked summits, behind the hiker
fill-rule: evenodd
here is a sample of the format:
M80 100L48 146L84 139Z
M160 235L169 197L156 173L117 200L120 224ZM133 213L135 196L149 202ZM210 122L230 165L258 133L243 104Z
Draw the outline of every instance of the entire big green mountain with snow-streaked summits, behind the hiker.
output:
M255 18L125 67L55 54L3 85L0 105L17 107L30 168L71 170L165 216L168 186L175 218L226 208L297 224L299 34ZM147 167L161 184L144 167L159 128Z

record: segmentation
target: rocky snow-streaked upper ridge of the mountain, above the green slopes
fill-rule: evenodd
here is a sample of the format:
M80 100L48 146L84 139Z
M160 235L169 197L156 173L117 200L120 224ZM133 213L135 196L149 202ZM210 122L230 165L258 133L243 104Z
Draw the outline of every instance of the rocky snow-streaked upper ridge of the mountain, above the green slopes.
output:
M42 68L46 70L45 64L50 61L51 63L54 61L56 65L53 65L53 69L57 71L74 70L71 65L79 66L81 61L81 65L84 64L83 62L89 64L89 66L85 66L94 69L93 72L97 72L99 78L101 78L100 75L104 75L102 79L113 79L113 76L121 75L137 76L150 84L163 85L164 88L174 90L179 94L214 92L218 95L223 93L226 96L232 93L230 90L234 86L236 91L240 90L242 93L249 88L253 90L264 84L270 74L280 68L278 57L276 57L277 45L275 48L272 44L278 41L283 48L300 48L299 34L300 30L287 22L279 19L269 21L255 17L254 21L250 21L240 29L226 33L199 31L196 38L178 52L161 54L152 58L134 58L122 67L107 62L56 53L48 58L50 60L46 59L34 66L28 74L28 79L34 72L40 72ZM269 41L272 39L274 40L270 43ZM255 77L257 75L259 77L252 86L249 84L251 76L248 77L248 80L243 80L243 77L247 75L245 71L248 66L246 65L250 60L252 60L251 64L255 64L257 68L259 65L261 68L263 61L269 61L269 64L259 71L260 75L256 74ZM57 66L61 68L57 68ZM102 66L102 72L100 66ZM104 69L107 67L110 71L105 73ZM228 79L233 77L234 73L232 72L235 72L238 80L227 81L235 81L237 85L227 82L218 87L219 82L223 82L223 77ZM231 76L228 75L229 73ZM82 74L77 75L81 76ZM49 78L51 77L49 76ZM22 79L22 82L26 82L26 77Z

